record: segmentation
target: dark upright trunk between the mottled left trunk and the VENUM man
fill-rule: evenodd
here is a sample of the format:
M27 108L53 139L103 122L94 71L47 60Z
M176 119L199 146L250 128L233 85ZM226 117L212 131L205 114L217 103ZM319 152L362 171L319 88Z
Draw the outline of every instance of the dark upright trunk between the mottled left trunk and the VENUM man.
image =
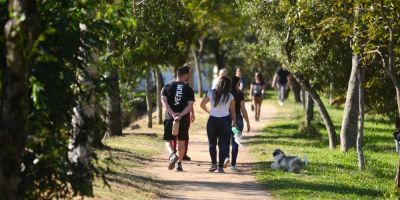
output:
M107 79L107 132L111 136L122 136L121 95L116 66L112 66Z

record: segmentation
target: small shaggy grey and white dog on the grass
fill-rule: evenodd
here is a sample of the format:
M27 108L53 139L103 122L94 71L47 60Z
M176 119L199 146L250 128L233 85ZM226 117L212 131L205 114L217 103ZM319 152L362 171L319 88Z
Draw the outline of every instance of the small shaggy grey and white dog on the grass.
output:
M297 156L286 156L280 149L275 149L272 153L274 162L271 164L272 169L283 169L285 172L299 173L301 169L308 165L307 156L302 161Z

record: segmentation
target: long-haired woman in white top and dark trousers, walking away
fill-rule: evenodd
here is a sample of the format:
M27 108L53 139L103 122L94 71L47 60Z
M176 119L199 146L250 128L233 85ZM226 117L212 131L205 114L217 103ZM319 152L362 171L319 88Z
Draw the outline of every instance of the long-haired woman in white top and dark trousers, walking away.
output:
M216 89L210 90L200 103L200 107L210 115L207 121L208 147L211 157L209 172L218 170L219 173L224 173L223 168L227 167L230 162L227 157L231 128L237 127L235 100L229 92L230 87L231 80L229 78L225 76L220 78ZM208 103L210 103L210 109L207 108ZM217 144L219 148L218 165Z

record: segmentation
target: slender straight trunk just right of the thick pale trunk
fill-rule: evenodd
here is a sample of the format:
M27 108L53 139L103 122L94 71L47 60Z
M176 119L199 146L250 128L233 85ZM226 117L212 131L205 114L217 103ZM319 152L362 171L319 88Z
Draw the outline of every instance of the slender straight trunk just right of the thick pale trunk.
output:
M358 73L358 79L360 81L359 84L359 109L360 109L360 116L359 116L359 126L358 126L358 134L357 134L357 156L358 156L358 168L360 170L365 170L365 160L364 160L364 152L362 149L362 142L364 138L364 76L365 76L365 69L360 68Z

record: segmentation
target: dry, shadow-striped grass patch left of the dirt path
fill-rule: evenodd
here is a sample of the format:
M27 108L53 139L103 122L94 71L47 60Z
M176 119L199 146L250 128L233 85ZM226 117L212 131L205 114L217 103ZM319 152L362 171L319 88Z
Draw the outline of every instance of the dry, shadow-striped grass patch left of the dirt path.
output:
M153 155L162 150L159 137L125 135L111 137L105 142L105 150L96 151L98 165L109 168L106 179L96 178L96 199L154 199L160 194L160 185L141 167Z

